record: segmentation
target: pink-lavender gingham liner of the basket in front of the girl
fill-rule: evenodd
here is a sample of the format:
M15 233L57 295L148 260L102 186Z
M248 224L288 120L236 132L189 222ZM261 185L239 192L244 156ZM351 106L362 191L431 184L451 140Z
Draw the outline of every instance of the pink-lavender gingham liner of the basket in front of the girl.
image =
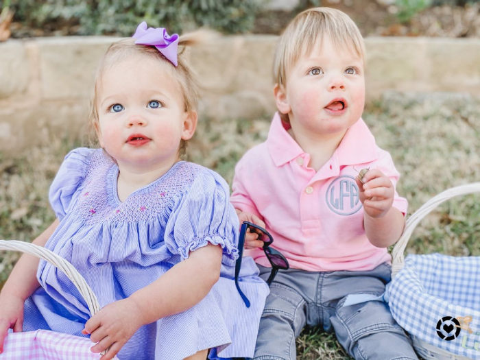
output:
M96 360L89 339L74 335L38 330L9 333L3 343L1 360ZM118 359L115 357L114 359Z

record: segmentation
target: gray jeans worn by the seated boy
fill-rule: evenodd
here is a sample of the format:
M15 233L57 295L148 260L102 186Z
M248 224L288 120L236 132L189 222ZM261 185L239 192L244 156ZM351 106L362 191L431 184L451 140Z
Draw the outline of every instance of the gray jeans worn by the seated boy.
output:
M258 266L266 280L271 269ZM390 274L387 263L364 272L280 270L265 303L254 360L296 360L295 339L306 324L335 331L355 359L418 359L387 304L370 301L341 307L350 293L381 295Z

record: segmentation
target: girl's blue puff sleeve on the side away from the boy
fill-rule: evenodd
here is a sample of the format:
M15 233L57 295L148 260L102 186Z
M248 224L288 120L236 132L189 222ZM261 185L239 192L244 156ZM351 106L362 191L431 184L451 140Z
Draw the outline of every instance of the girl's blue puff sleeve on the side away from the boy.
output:
M49 191L53 211L60 221L67 214L73 195L86 176L88 162L95 149L79 147L65 156Z

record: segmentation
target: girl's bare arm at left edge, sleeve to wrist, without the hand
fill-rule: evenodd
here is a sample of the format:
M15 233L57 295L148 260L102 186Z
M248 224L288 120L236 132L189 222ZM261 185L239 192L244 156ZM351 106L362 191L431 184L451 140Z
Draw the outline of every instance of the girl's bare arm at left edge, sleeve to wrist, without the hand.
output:
M60 224L60 221L56 219L47 230L32 241L32 243L39 246L45 246L45 243L47 243L58 224ZM29 298L38 287L40 287L36 278L39 261L40 259L36 256L23 254L13 268L10 276L8 276L8 280L5 285L3 285L1 293L18 296L23 301L27 300L27 298Z

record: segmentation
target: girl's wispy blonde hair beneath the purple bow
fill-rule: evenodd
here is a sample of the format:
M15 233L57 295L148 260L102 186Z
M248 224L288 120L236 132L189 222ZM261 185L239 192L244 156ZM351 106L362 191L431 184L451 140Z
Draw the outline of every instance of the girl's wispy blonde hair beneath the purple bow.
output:
M97 75L95 76L95 86L93 90L93 97L90 104L90 115L88 117L91 130L99 127L99 117L97 111L97 95L99 91L99 84L101 77L104 73L111 69L115 64L129 58L134 55L147 56L159 62L167 62L168 66L165 67L170 72L173 79L178 81L182 97L184 99L184 110L186 112L196 111L198 106L198 91L199 84L196 79L196 75L189 67L184 59L184 49L186 46L197 45L206 42L208 38L215 36L214 32L208 30L198 30L189 34L180 36L178 40L178 66L175 67L163 56L158 49L149 45L135 45L134 38L126 38L117 41L108 47L105 55L101 58L99 67L97 69ZM179 154L183 156L187 148L187 141L182 140L180 142Z

